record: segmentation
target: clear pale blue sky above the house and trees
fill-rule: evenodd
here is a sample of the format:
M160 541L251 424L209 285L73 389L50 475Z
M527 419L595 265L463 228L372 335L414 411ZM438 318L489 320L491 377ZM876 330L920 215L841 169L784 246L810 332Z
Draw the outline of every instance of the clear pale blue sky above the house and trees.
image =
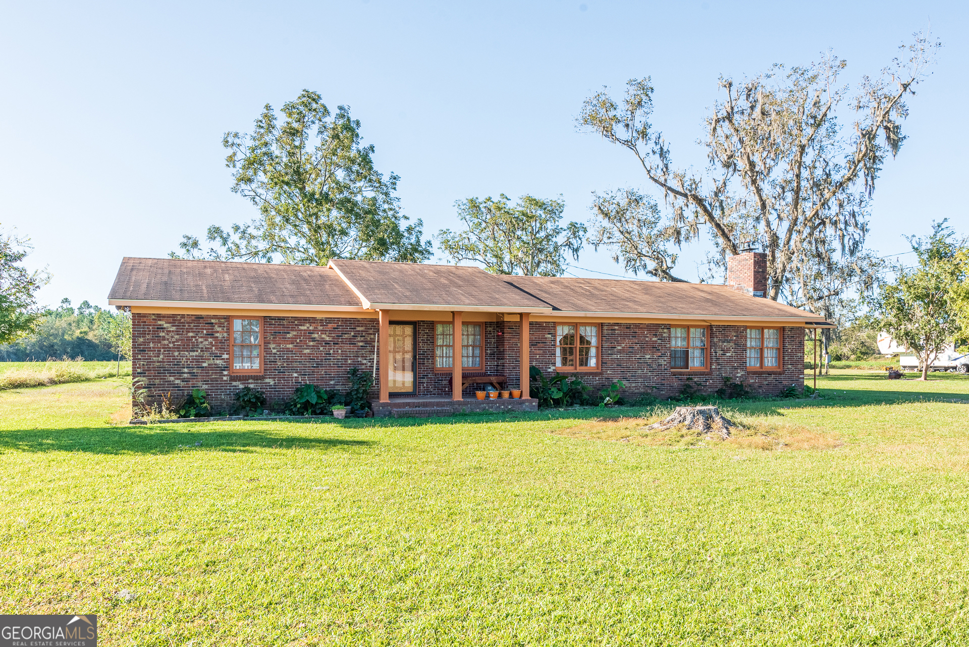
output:
M425 234L454 200L590 194L643 182L634 159L579 133L582 100L651 76L653 123L674 162L703 166L717 77L806 64L831 47L844 79L875 75L929 24L934 74L909 101L910 139L882 173L870 245L905 251L933 218L969 230L961 150L969 12L943 2L191 2L3 5L0 227L30 236L44 303L107 306L123 256L163 257L183 233L253 217L229 190L221 145L302 88L351 107L381 171L401 176ZM703 250L677 273L697 276ZM575 263L621 270L605 253ZM578 275L599 276L582 270Z

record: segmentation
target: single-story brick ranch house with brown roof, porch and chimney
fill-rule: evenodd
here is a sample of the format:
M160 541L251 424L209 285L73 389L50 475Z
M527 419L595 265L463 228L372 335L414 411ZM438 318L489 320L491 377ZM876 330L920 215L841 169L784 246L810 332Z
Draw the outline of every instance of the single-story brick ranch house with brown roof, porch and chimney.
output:
M375 372L378 416L454 401L534 409L529 366L660 397L687 378L703 392L725 377L766 395L803 385L805 329L827 323L763 298L765 254L728 263L721 286L403 262L125 258L109 303L132 313L132 372L149 400L202 387L216 411L246 385L270 402L307 382L345 389L351 367ZM521 400L477 401L489 376Z

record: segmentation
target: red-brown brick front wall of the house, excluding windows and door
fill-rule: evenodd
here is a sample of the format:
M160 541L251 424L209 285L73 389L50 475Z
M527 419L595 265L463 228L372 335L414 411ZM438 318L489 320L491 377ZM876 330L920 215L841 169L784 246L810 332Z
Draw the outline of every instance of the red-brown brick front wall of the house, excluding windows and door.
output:
M203 387L221 411L234 394L251 385L266 392L270 402L288 399L297 385L310 382L345 390L347 370L373 365L373 319L266 317L264 319L264 375L229 374L229 318L215 315L148 315L133 317L133 372L144 380L152 399L172 392L181 398ZM518 384L519 323L485 323L485 369ZM501 334L498 334L498 333ZM555 372L555 324L530 325L531 364L547 375ZM582 372L582 380L597 388L622 380L626 392L649 391L660 397L678 393L687 377L703 392L723 385L723 377L743 381L757 393L774 395L787 385L803 384L802 327L784 328L783 370L754 373L746 370L746 327L714 325L710 330L710 370L670 370L670 326L661 323L603 323L601 371ZM450 397L450 374L435 374L433 322L418 323L418 394ZM469 396L474 386L465 390ZM376 386L372 395L377 395Z

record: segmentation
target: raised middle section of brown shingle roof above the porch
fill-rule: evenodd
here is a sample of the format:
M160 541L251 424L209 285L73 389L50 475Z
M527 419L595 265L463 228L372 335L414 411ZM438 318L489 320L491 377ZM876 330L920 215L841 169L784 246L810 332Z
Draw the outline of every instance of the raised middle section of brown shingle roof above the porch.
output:
M516 312L548 312L547 303L524 293L480 267L413 262L329 262L349 282L364 305L481 307Z

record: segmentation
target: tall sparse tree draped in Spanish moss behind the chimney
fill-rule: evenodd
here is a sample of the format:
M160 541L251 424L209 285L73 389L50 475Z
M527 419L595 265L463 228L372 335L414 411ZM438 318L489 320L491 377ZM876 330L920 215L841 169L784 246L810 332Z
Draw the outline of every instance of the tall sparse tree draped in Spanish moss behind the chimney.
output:
M601 226L614 231L600 244L617 247L627 269L674 280L672 246L708 235L716 249L709 261L722 270L742 242L756 241L767 254L766 295L820 311L819 295L831 291L813 282L817 270L848 277L870 269L859 261L875 180L905 139L903 100L938 46L917 35L903 60L881 77L862 77L854 94L838 78L845 61L830 55L736 82L721 77L723 98L706 119L703 170L673 165L670 143L650 123L648 77L630 80L618 99L594 94L578 126L629 150L672 207L660 220L636 208L636 195L597 200ZM801 284L807 289L790 292Z

